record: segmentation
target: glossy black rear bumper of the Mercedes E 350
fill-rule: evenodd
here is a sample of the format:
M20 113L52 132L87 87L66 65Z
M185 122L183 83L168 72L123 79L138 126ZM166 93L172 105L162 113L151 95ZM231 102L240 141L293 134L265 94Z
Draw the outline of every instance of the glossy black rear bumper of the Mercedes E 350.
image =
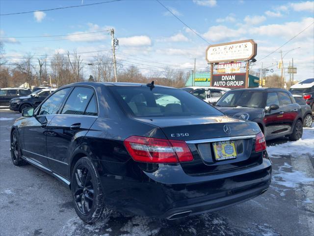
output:
M151 173L137 172L134 166L131 171L132 177L100 173L108 206L168 219L180 218L175 214L181 212L196 215L247 201L262 194L271 182L271 162L266 158L250 168L207 176L189 176L180 164L157 165Z

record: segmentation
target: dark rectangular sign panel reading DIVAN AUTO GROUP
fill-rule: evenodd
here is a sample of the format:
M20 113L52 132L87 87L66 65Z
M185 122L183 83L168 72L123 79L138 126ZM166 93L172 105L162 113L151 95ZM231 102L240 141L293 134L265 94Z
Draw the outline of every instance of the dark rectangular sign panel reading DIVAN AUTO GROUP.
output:
M214 87L245 88L245 73L213 75L211 83Z

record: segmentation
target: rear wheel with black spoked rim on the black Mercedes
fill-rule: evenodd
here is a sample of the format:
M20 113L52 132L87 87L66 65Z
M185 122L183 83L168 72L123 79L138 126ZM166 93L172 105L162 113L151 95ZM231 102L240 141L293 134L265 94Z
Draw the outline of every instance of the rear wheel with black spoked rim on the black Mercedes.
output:
M78 217L93 223L105 212L105 198L100 177L92 161L82 157L75 164L71 177L71 191Z

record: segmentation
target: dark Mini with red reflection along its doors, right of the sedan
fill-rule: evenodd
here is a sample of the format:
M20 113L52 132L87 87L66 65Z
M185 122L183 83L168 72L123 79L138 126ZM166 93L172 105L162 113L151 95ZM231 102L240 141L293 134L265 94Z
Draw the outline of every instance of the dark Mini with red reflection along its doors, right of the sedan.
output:
M302 137L301 107L286 89L230 90L215 107L228 116L257 122L266 140L282 136L288 136L290 140Z

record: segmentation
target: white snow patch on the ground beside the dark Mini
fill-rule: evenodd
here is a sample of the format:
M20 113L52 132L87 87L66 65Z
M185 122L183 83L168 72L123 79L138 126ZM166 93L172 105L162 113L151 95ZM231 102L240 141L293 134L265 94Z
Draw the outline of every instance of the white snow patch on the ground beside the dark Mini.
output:
M267 147L267 152L272 158L282 157L283 155L297 154L314 156L314 127L303 128L302 138L298 141L288 141L284 144Z

